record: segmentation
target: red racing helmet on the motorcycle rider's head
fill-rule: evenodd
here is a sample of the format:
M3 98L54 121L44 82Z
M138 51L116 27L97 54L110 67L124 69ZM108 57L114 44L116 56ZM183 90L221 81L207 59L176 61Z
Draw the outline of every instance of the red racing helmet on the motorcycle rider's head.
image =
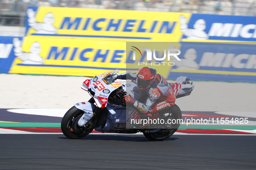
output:
M156 69L143 67L137 74L136 83L140 90L150 88L156 80Z

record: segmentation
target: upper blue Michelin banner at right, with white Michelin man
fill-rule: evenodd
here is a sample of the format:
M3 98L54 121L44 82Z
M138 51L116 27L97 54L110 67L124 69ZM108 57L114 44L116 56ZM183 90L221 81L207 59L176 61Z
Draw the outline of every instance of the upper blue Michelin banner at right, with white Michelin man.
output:
M256 17L220 16L192 14L187 18L180 16L182 41L220 40L220 41L256 41Z

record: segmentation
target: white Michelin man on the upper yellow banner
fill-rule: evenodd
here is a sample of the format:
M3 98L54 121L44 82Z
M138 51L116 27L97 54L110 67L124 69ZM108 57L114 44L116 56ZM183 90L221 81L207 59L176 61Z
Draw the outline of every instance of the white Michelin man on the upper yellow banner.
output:
M28 9L27 15L29 26L36 30L37 34L57 34L57 28L52 25L55 22L53 13L45 14L43 22L36 22L33 9Z

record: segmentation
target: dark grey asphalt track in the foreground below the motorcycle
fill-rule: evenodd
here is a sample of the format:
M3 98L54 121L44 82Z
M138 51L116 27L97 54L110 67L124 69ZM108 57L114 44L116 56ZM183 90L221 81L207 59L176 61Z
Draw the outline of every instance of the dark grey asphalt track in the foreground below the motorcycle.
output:
M1 134L0 170L256 169L256 135Z

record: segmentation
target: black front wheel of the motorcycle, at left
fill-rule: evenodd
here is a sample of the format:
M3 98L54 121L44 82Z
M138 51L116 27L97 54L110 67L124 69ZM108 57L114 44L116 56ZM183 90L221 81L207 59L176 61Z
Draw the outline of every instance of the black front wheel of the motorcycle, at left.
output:
M75 106L71 107L62 118L61 128L62 133L70 139L80 139L88 135L94 126L88 129L78 126L78 120L84 114L84 111L77 109Z

